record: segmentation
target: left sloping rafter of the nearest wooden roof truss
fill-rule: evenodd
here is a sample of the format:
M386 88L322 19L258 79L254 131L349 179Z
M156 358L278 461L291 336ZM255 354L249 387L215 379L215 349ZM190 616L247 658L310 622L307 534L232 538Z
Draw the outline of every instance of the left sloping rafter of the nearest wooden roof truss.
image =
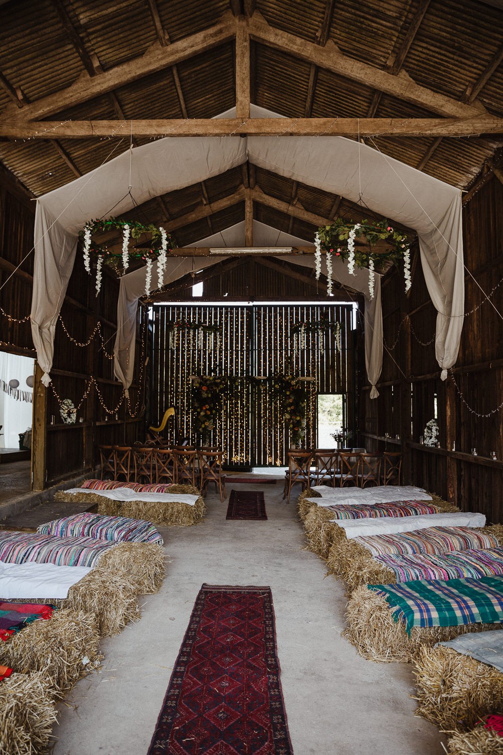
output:
M211 50L233 39L236 31L235 18L230 11L224 14L218 23L183 39L179 39L166 47L155 42L140 57L128 60L114 68L92 77L88 72L82 72L78 79L66 89L61 89L47 97L42 97L36 102L30 103L23 108L23 117L26 119L47 118L53 112L72 107L93 97L100 97L110 91L143 79L151 73L156 73L170 66L176 66L182 60L188 60L198 54ZM24 112L26 111L26 116ZM5 108L2 117L7 119L16 111L11 106Z

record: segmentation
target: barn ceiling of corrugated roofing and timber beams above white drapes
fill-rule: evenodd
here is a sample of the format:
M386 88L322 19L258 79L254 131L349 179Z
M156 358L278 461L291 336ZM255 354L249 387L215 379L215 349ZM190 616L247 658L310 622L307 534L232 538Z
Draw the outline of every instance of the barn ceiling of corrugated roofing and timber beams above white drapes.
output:
M250 102L285 116L250 119ZM214 119L235 107L236 117ZM0 161L32 196L173 134L358 139L459 187L503 180L503 9L477 0L11 0ZM180 247L252 220L311 243L362 204L246 163L129 217Z

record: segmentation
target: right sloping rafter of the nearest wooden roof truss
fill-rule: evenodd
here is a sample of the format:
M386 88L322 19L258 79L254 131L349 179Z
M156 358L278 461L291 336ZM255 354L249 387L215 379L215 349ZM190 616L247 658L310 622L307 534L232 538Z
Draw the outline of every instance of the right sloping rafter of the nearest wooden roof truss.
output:
M442 116L462 118L486 112L480 103L477 103L477 106L468 105L422 87L405 72L393 75L367 63L346 57L331 40L325 47L320 47L306 39L275 29L269 26L259 11L256 11L250 19L250 35L262 45L281 50L293 57L299 57L308 63L314 63L319 68L345 76L346 79L385 92L385 94L391 94L400 100L428 108Z

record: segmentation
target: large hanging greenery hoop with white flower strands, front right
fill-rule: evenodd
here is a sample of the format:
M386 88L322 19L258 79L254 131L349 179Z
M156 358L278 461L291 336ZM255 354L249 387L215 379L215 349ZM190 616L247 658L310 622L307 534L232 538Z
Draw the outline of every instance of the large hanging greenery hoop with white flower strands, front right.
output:
M363 237L367 247L355 248L355 239ZM388 249L374 252L373 245L379 241L388 242ZM332 273L333 257L348 260L348 273L354 275L354 267L367 268L369 270L369 294L374 297L375 270L384 262L397 264L403 260L403 276L405 278L405 291L411 286L410 277L410 249L407 237L401 231L394 230L388 220L362 220L361 223L345 223L338 217L332 225L318 228L314 237L314 260L316 279L321 275L321 250L324 249L327 261L327 275L330 279Z

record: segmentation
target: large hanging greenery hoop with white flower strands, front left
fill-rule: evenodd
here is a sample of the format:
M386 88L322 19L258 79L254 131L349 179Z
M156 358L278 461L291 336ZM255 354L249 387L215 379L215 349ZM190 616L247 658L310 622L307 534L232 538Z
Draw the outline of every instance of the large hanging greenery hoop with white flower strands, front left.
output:
M140 223L138 220L121 220L118 217L109 217L106 220L88 220L84 228L78 232L78 238L82 242L82 255L87 273L90 274L91 260L96 264L96 294L100 293L103 264L116 267L118 254L106 245L94 242L93 234L113 230L122 233L122 272L127 271L131 259L144 260L147 268L145 293L148 295L152 289L152 263L158 259L158 281L155 288L161 288L164 285L166 257L173 249L173 242L169 233L153 223L146 224ZM130 240L135 239L136 242L139 242L142 236L146 236L148 240L130 248Z

